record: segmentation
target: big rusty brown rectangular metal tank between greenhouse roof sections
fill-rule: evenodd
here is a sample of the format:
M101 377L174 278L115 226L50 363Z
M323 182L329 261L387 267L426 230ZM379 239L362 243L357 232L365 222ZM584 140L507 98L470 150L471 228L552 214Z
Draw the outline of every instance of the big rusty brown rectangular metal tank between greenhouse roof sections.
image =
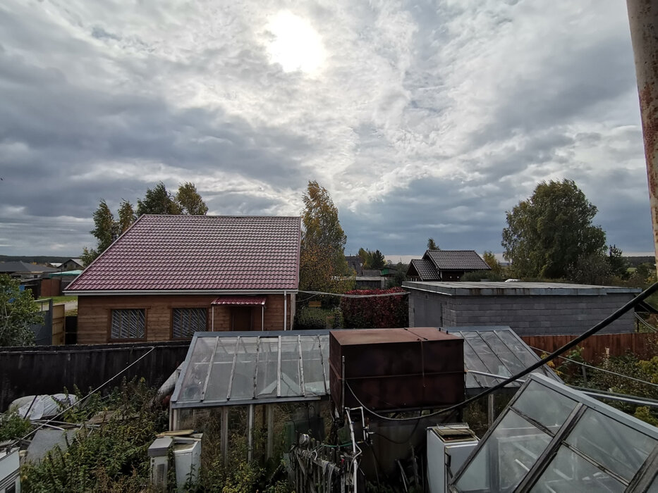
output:
M464 399L463 339L434 327L329 333L331 399L373 411L435 408ZM350 390L351 389L351 390ZM353 391L353 393L352 393Z

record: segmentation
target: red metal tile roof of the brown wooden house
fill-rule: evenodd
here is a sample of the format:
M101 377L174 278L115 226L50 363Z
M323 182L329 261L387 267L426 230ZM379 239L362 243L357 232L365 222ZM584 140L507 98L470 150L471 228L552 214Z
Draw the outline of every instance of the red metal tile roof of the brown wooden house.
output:
M67 292L297 289L300 218L142 216Z

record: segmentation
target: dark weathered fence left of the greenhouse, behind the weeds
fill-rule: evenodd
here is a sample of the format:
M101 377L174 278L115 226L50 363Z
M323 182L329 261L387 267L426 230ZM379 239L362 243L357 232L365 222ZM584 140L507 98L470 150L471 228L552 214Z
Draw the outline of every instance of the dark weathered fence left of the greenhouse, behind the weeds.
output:
M0 351L0 411L18 397L54 394L73 386L86 393L154 350L111 382L124 376L144 377L149 385L161 385L185 360L189 341L95 344L90 346L11 347Z

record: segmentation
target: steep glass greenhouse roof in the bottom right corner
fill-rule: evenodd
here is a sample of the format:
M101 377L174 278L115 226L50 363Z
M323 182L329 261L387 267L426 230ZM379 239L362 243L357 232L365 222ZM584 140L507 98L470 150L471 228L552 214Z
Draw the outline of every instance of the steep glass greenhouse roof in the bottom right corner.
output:
M530 375L451 492L644 492L658 428L543 375Z

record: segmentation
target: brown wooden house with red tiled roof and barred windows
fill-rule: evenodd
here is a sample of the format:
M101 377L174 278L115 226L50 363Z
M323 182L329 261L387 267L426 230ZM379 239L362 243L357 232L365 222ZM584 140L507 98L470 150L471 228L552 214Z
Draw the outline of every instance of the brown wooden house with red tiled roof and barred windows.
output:
M300 231L298 217L141 216L65 291L78 344L291 328Z

